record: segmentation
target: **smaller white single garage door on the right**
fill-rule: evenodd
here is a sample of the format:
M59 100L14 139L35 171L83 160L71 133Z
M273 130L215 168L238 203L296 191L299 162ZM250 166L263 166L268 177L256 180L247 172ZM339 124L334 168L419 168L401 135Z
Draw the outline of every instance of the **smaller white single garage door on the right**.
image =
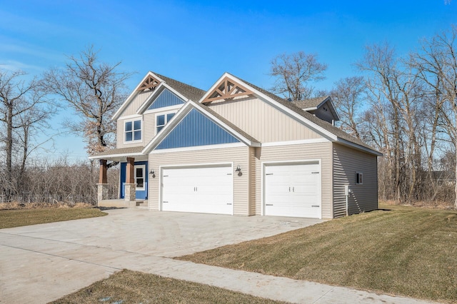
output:
M318 161L266 165L264 214L321 218L320 170Z

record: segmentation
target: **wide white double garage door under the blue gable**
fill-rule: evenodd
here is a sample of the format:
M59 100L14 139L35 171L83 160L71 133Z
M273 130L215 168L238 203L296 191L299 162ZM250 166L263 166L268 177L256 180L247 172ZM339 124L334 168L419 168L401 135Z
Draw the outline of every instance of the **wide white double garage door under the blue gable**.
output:
M162 210L233 213L233 173L229 166L164 168Z

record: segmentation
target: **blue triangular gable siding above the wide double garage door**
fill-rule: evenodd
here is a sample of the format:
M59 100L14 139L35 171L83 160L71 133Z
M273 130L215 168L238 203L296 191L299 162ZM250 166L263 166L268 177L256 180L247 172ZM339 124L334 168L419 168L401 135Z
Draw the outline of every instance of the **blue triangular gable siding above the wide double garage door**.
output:
M231 133L193 108L154 150L238 142Z

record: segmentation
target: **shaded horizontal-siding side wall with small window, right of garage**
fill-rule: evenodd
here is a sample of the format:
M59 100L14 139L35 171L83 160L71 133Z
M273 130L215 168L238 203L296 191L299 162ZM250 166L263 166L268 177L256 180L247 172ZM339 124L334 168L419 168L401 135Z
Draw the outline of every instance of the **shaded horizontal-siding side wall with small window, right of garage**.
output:
M363 184L356 185L356 172L363 173ZM378 208L378 167L376 156L333 143L333 217L346 216L344 186L350 185L349 214Z

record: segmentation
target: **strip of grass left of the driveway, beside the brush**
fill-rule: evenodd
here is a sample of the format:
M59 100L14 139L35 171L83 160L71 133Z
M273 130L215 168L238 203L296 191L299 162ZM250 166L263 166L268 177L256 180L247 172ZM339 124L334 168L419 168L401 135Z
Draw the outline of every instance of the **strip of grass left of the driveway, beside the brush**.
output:
M97 208L44 208L1 210L0 229L106 216Z

